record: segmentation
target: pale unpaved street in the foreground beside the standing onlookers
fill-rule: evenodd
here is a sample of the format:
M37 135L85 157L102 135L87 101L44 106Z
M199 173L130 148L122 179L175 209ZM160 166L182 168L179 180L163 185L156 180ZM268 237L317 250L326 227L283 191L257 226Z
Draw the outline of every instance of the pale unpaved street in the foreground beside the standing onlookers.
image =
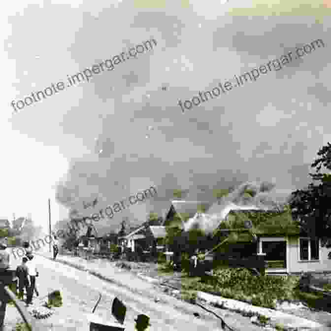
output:
M39 265L40 277L37 278L40 298L49 291L60 289L63 294L64 306L56 308L56 313L47 319L47 323L53 324L53 330L88 330L86 314L91 313L98 299L98 291L102 293L101 301L96 309L96 314L102 318L111 319L111 304L114 297L120 298L127 306L126 330L134 330L134 319L139 313L150 317L151 326L149 330L222 330L221 321L211 314L204 312L198 306L189 303L187 310L192 313L183 312L169 303L154 302L148 298L147 293L137 294L131 291L102 281L90 275L86 271L80 271L73 267L63 265L59 262L49 261L41 256L35 255L36 263ZM38 301L37 298L34 299ZM179 301L178 301L179 302ZM193 315L198 312L200 318ZM218 310L217 312L235 330L262 330L250 323L248 318L239 314Z

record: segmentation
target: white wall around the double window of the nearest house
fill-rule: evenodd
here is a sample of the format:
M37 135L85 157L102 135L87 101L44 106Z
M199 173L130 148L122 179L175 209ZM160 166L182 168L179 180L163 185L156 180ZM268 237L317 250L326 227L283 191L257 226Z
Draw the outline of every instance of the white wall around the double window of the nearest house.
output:
M320 260L319 261L299 261L299 242L298 236L289 237L288 239L288 265L289 272L307 272L307 271L331 271L331 260L328 259L330 248L321 247L320 245Z

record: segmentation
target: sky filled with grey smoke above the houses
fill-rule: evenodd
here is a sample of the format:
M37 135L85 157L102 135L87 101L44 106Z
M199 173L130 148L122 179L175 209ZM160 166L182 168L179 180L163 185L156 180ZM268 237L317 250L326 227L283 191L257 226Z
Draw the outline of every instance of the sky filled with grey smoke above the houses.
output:
M158 199L107 221L118 227L145 221L173 189L302 188L331 141L330 14L328 0L11 1L0 13L0 216L30 213L46 229L48 199L55 223L92 213L83 201L98 197L99 210L154 185ZM12 100L152 38L153 50L13 113ZM324 48L256 82L178 105L317 39Z

